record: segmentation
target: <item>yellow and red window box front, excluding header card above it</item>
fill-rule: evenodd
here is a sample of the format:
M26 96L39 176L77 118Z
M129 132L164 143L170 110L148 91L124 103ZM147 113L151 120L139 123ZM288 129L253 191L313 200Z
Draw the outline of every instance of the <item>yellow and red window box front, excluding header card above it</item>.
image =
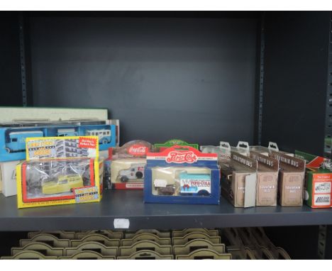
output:
M60 173L52 175L57 167ZM80 168L83 173L77 174ZM98 158L22 162L16 166L18 208L100 201L103 173L104 161Z

